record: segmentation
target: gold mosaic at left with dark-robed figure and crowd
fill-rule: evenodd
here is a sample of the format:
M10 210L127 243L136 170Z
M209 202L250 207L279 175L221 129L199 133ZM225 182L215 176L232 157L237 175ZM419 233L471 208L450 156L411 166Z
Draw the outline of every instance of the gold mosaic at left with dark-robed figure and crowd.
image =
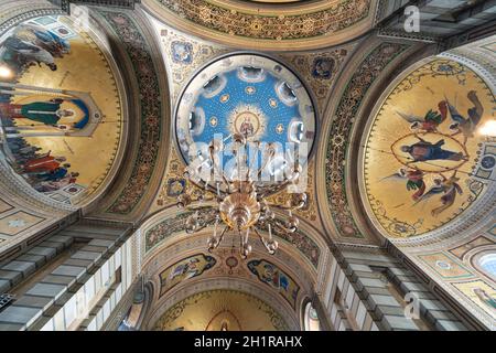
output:
M52 200L84 203L121 136L105 54L68 17L41 17L0 39L0 162Z

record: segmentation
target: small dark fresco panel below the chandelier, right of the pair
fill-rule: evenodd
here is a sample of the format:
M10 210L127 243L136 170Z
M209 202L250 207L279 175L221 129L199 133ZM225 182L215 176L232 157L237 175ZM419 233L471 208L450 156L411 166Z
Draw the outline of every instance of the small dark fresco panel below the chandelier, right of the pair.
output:
M251 260L247 264L251 274L266 285L276 289L293 309L296 307L296 298L300 286L278 266L267 260Z

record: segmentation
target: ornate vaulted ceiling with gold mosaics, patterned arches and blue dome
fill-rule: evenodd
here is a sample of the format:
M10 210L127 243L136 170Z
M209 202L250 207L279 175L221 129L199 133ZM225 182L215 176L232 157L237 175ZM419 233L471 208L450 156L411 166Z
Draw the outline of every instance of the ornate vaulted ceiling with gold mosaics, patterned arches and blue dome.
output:
M133 266L155 290L149 324L187 330L196 328L185 321L197 308L192 298L208 308L203 329L208 322L246 329L236 322L255 320L244 317L247 308L263 328L296 328L298 308L322 281L330 248L391 242L487 318L470 282L494 293L473 265L495 242L487 216L494 210L494 141L475 132L494 118L494 43L473 51L490 68L482 71L463 51L432 56L434 47L424 43L367 33L374 0L294 1L284 9L281 1L267 2L144 0L136 12L91 10L105 34L80 31L58 15L24 21L39 32L4 32L0 60L14 72L2 84L24 86L2 86L3 131L64 133L2 145L1 171L10 176L0 180L0 245L63 216L44 214L40 197L64 212L96 199L85 215L139 228ZM110 51L110 43L119 45ZM29 65L20 45L45 45L47 54ZM228 56L251 49L272 53ZM51 114L32 114L41 110ZM74 135L87 125L89 136ZM303 226L276 234L281 254L268 258L256 247L246 263L229 246L204 252L212 228L186 235L187 214L174 206L184 191L198 193L184 179L187 151L181 146L241 129L272 141L300 136L315 143L306 169L310 202L296 212ZM42 158L50 168L71 163L66 172L79 174L67 184L43 176ZM290 197L280 193L271 201ZM239 296L270 314L249 306L237 311ZM211 306L211 298L225 306ZM172 318L174 306L183 304L187 313Z

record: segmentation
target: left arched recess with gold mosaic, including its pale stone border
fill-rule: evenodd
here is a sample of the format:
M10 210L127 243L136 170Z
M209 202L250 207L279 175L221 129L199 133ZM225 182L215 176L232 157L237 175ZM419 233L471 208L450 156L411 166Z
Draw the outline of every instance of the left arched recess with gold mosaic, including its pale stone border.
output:
M95 13L85 31L41 3L34 10L19 3L6 13L13 18L0 40L0 65L9 74L0 88L7 121L1 128L0 217L15 229L2 231L8 232L0 236L2 252L20 249L36 233L74 222L100 203L123 162L129 121L119 51ZM12 56L19 43L41 47L44 56ZM41 60L40 66L33 60ZM99 83L87 79L89 69ZM71 114L40 118L30 113L40 105ZM96 143L88 146L88 140ZM53 174L53 168L65 175Z

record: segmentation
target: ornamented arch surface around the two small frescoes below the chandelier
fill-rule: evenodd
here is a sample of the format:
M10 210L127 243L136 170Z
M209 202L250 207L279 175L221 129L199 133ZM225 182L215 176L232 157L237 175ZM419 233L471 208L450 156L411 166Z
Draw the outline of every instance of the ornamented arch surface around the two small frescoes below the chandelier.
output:
M153 223L151 223L153 224ZM142 236L143 232L139 236ZM222 268L226 268L227 258L233 248L230 247L233 239L231 236L226 235L225 244L219 246L215 252L208 254L205 249L205 238L208 235L208 231L195 234L195 235L185 235L184 233L177 233L172 235L170 238L164 240L163 244L160 245L158 249L153 249L153 254L148 255L145 260L141 263L141 274L145 281L152 282L154 288L153 295L153 307L157 308L162 306L164 300L169 300L171 296L181 296L183 293L193 295L194 292L204 291L207 289L239 289L245 290L249 293L259 293L263 292L268 296L272 296L273 301L278 302L278 306L282 306L285 310L291 311L295 324L299 322L299 309L301 307L301 302L304 298L308 298L314 292L314 288L316 286L317 272L310 264L306 264L304 259L302 259L301 254L298 252L288 253L290 247L284 248L280 247L276 256L267 255L265 247L262 245L258 245L254 243L254 252L250 255L249 259L242 261L239 257L237 260L239 261L237 267L235 267L236 276L227 276L225 275L225 270ZM138 240L138 243L142 244L142 240ZM235 248L236 252L236 248ZM161 293L161 281L160 274L164 270L172 268L174 265L181 263L184 259L193 257L198 254L208 254L215 258L215 265L213 268L205 270L204 272L198 274L195 277L188 278L173 286L172 288L168 288L165 291ZM237 253L235 253L237 254ZM226 257L227 256L227 257ZM250 260L261 259L266 261L270 261L273 266L278 267L281 271L283 271L287 276L290 277L290 280L293 280L298 287L300 288L298 291L298 297L294 302L294 308L291 308L288 300L284 300L274 288L268 286L262 282L259 278L257 278L254 274L250 274L247 265ZM226 264L224 261L226 260ZM220 267L220 268L219 268ZM224 274L224 275L223 275ZM233 281L240 280L242 286L231 285ZM192 291L191 288L196 288L197 282L216 282L217 287L198 287L197 291ZM234 284L234 282L233 282ZM184 297L185 298L185 297ZM267 301L266 296L262 298ZM175 300L174 302L180 301L181 299ZM171 302L172 306L174 302ZM268 301L269 304L271 304ZM274 307L274 309L277 309ZM166 310L164 308L161 313ZM157 312L151 313L150 315L160 317ZM147 315L147 321L150 322L150 317ZM298 319L298 320L296 320ZM143 325L144 328L147 324Z

